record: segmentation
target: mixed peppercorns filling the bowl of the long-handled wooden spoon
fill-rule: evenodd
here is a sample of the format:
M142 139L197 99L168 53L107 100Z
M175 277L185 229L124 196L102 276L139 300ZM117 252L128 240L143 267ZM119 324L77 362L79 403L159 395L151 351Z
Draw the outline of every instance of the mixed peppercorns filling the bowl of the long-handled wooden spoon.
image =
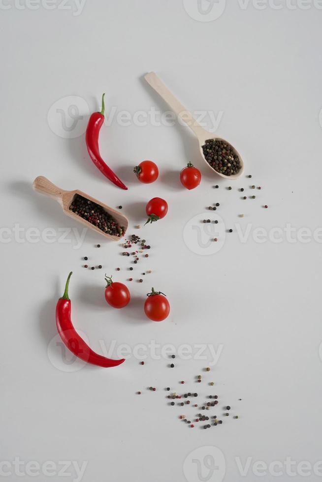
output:
M203 155L215 171L232 176L241 169L240 159L233 148L220 139L207 139L202 146Z

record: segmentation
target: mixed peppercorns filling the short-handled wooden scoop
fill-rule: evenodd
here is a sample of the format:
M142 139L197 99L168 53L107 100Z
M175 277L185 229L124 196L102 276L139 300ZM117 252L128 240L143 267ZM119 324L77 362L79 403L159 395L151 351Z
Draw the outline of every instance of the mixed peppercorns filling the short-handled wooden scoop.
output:
M111 236L124 236L124 228L99 204L76 194L69 210Z

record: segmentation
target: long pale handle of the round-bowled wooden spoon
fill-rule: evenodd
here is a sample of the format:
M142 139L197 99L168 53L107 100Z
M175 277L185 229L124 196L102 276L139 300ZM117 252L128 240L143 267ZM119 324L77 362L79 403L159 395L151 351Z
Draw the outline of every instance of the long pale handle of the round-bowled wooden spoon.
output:
M149 72L144 76L145 80L150 86L158 92L162 99L171 107L173 112L177 114L187 125L193 130L198 139L204 140L205 133L207 132L198 122L193 118L191 112L187 111L185 107L179 102L179 100L173 95L172 92L163 84L161 79L155 72Z

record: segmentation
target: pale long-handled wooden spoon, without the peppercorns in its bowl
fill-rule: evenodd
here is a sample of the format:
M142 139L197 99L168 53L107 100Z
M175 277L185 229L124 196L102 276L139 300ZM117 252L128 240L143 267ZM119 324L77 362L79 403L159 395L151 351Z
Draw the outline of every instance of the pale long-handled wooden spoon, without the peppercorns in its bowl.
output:
M155 74L155 72L150 72L150 73L146 74L144 76L144 78L148 82L148 84L150 84L150 86L156 92L158 92L158 94L162 97L162 99L171 107L173 112L178 117L180 117L187 125L189 125L189 127L193 130L194 134L196 135L196 137L199 141L200 153L201 153L202 158L204 159L205 163L207 164L207 166L210 167L210 169L213 172L215 172L216 174L218 174L222 178L231 179L231 180L239 178L244 172L244 161L243 161L241 155L239 154L239 152L236 151L236 149L233 146L231 146L231 144L228 143L229 146L231 146L231 149L234 152L234 154L238 155L239 160L240 160L241 169L238 171L237 174L233 174L231 176L226 176L225 174L222 174L222 173L219 173L218 171L216 171L216 169L211 167L211 165L206 161L206 159L203 155L202 146L204 145L204 143L207 139L218 139L218 140L221 140L221 141L225 141L225 139L223 139L222 137L214 136L214 134L212 132L208 132L203 127L201 127L201 125L198 124L198 122L193 118L193 115L191 114L191 112L187 111L187 109L184 108L184 106L173 95L173 93L170 92L170 90L163 84L163 82L157 76L157 74ZM227 141L225 141L225 142L227 142Z

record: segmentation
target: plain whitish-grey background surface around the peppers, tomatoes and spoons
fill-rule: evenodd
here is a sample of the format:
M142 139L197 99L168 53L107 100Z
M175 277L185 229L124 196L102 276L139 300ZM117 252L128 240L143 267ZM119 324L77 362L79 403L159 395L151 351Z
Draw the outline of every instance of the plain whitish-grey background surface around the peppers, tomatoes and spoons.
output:
M87 461L84 482L200 481L196 463L188 460L184 474L184 461L204 446L217 447L225 457L225 466L219 457L221 468L209 479L215 482L224 474L225 481L245 480L236 457L243 465L252 457L246 477L252 482L259 479L252 469L258 460L284 464L290 456L296 464L313 466L322 459L321 243L300 242L296 233L295 242L284 234L280 243L259 243L253 232L290 223L296 231L307 227L313 233L322 226L322 11L312 2L307 9L295 1L294 9L282 1L276 2L281 9L227 2L223 14L208 22L202 21L206 15L201 21L189 15L181 0L88 0L79 15L70 3L63 9L56 2L52 10L39 3L31 9L22 0L1 5L1 227L7 228L1 230L1 461L12 464L20 457L57 466L62 460ZM196 2L190 7L196 12ZM102 127L99 144L129 186L122 191L89 159L85 127L79 137L68 138L72 134L64 131L62 114L55 109L48 114L60 101L70 125L69 96L79 96L85 126L89 113L100 108L103 91L107 115L112 107L131 116L152 107L163 113L168 107L142 79L151 70L191 111L222 113L217 134L242 153L244 177L229 182L214 176L187 127L151 125L149 119L144 126L133 121L124 126L114 117ZM206 121L211 129L209 116ZM159 165L154 184L143 185L132 173L143 159ZM188 161L203 176L194 191L178 181ZM151 244L149 259L132 271L127 308L113 310L104 300L105 272L123 282L129 278L129 258L122 257L120 243L90 232L79 249L72 235L69 242L58 236L52 243L30 242L31 227L40 233L48 227L82 228L53 200L33 192L38 175L112 207L122 204L129 234L137 232ZM262 190L249 189L253 183ZM225 189L229 184L231 191ZM240 187L257 198L241 200ZM144 223L145 203L156 195L167 200L167 217L135 231ZM221 203L217 213L233 233L226 234L217 253L196 254L197 231L184 239L184 226L194 216L213 216L205 208L214 202ZM251 223L246 242L236 223L242 231ZM15 224L24 228L20 242ZM83 256L103 270L85 270ZM153 273L142 276L148 269ZM57 333L56 301L71 270L73 321L98 353L102 343L108 349L113 340L131 350L151 340L176 348L189 344L194 354L196 344L209 343L215 350L222 347L217 364L203 372L212 359L208 350L206 360L177 356L173 370L167 358L153 360L149 353L145 366L133 353L116 368L66 365L60 347L50 342ZM152 286L171 303L163 323L149 322L142 311ZM194 381L199 373L201 384ZM180 380L186 381L184 390ZM216 385L210 388L211 380ZM157 392L146 390L151 385ZM193 420L199 409L168 406L166 386L178 393L197 391L200 403L217 393L219 408L208 414L221 417L228 403L231 416L221 426L203 430L195 423L191 429L178 416ZM21 480L13 465L10 470L6 480ZM296 465L292 470L292 480L304 479ZM69 472L63 480L76 480ZM284 467L277 479L289 478ZM320 478L312 470L305 479ZM62 477L24 477L47 479ZM276 477L267 469L260 479Z

